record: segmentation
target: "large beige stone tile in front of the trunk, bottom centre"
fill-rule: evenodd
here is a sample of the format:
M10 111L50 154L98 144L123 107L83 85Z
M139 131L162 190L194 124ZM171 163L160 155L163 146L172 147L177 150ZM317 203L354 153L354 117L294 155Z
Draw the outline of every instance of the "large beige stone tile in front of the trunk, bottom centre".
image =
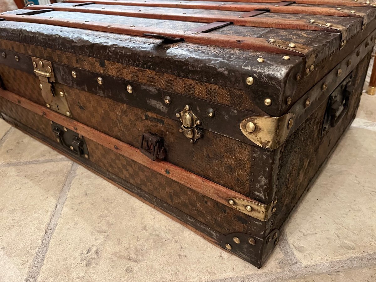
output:
M280 265L278 248L258 270L80 167L38 281L204 281Z

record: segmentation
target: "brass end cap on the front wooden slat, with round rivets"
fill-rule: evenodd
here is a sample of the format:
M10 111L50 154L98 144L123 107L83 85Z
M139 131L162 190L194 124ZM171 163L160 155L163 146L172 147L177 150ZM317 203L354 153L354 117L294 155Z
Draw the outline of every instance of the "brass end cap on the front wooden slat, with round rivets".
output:
M274 202L270 202L268 205L264 205L256 201L251 202L238 198L229 199L229 204L232 205L234 209L237 209L238 211L243 212L244 214L247 214L251 217L257 218L262 221L267 221L273 214L273 209L275 211L276 208ZM251 209L249 210L249 208L247 207L250 207Z

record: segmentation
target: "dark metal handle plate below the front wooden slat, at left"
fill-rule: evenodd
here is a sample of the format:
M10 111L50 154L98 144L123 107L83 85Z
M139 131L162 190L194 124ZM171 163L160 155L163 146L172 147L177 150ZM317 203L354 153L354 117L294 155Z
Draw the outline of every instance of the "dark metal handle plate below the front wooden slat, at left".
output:
M74 155L80 158L89 159L89 151L85 139L70 129L51 121L52 132L56 135L56 141L65 149L70 150Z

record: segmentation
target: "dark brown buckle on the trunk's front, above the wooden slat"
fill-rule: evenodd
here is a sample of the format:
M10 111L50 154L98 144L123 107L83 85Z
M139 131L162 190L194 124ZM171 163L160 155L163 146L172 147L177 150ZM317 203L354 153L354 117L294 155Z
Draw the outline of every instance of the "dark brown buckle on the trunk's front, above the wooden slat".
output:
M149 159L155 161L164 159L166 151L163 147L163 138L152 133L144 133L141 138L140 151Z

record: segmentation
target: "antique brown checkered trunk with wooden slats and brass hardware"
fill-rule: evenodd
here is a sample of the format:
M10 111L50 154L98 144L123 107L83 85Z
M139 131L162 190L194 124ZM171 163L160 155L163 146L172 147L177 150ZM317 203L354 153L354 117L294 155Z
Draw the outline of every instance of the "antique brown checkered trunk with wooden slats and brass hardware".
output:
M261 267L355 117L375 6L66 0L6 12L1 116Z

